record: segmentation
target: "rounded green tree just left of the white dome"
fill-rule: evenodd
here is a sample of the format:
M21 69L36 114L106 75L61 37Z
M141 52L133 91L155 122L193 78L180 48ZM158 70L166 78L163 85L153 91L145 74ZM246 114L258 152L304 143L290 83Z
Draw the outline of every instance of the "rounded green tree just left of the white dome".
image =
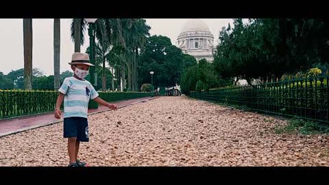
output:
M166 36L151 36L147 38L140 64L138 84L150 84L149 71L154 71L154 86L175 86L180 84L183 72L195 66L197 61L193 56L183 54Z

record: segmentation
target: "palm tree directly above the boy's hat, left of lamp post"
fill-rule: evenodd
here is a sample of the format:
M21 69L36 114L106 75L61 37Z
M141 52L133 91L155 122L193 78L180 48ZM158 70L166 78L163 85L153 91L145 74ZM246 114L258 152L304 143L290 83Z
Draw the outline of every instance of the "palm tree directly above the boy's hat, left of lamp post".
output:
M74 52L80 52L80 46L84 45L86 24L84 18L73 18L71 22L71 39L74 42Z

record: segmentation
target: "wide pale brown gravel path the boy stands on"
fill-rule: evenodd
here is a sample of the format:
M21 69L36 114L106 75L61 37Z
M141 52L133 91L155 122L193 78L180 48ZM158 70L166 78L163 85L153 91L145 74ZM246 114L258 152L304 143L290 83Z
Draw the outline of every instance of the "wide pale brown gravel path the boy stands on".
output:
M329 166L329 136L275 134L287 124L186 97L89 116L80 158L93 166ZM0 166L66 166L62 123L0 138Z

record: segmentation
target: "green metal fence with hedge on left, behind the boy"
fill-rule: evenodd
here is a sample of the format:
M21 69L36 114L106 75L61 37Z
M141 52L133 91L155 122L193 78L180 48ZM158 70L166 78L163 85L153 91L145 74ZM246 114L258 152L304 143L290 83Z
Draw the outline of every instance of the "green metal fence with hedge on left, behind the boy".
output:
M109 102L150 96L151 93L99 93ZM0 90L0 119L53 112L57 97L58 92L53 90Z

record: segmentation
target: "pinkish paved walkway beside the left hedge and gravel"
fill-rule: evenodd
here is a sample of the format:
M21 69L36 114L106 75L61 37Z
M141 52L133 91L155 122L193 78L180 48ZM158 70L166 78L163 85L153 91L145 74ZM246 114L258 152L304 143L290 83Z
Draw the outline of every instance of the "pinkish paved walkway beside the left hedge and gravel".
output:
M117 104L118 108L123 108L125 106L130 106L135 103L140 103L143 101L148 101L150 99L154 99L156 97L143 97L143 98L137 98L137 99L128 99L125 101L115 101L112 102L114 104ZM99 112L104 112L110 110L109 108L105 106L99 105L98 109L90 109L88 110L88 115L90 114L96 114ZM23 132L25 130L30 130L36 127L42 127L45 125L51 125L53 123L59 123L63 121L63 114L61 116L61 119L56 119L54 116L54 113L47 113L47 114L41 114L38 116L25 116L21 117L19 119L8 119L0 121L0 137L7 136L10 134L15 134L17 132Z

